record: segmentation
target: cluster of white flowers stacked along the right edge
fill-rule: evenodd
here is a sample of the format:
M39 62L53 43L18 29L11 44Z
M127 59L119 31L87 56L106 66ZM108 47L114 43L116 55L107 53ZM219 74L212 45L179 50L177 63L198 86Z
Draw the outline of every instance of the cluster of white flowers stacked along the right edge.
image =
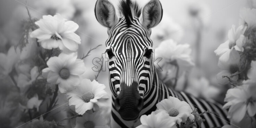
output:
M219 56L219 84L231 84L223 108L237 126L255 126L256 114L256 9L240 11L239 26L229 30L229 39L214 52ZM245 123L246 122L246 123Z

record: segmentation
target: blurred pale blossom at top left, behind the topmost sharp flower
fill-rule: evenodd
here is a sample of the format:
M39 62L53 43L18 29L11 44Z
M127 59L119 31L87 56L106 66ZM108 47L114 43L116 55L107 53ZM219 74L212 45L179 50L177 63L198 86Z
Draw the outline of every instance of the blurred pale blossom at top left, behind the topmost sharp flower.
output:
M75 13L73 0L36 0L33 8L44 15L61 14L66 19L71 19Z

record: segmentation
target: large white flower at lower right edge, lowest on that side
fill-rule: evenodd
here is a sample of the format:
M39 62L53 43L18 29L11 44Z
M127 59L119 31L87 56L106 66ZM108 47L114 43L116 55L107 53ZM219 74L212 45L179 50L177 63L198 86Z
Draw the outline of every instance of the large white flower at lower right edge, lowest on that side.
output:
M224 99L227 103L223 108L229 108L228 118L238 123L244 118L246 112L250 117L256 114L255 85L254 80L245 80L242 86L227 91Z

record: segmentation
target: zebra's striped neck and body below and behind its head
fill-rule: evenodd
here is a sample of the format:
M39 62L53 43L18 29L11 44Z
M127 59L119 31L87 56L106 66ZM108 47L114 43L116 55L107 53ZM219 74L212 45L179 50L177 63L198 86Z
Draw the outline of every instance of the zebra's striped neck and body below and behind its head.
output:
M141 110L141 115L149 115L152 111L155 111L156 104L163 99L168 99L169 96L176 97L181 101L186 101L191 106L192 110L197 108L199 113L209 111L207 114L203 114L202 118L205 121L202 123L201 128L215 128L228 125L228 118L226 117L227 111L222 110L222 105L219 103L208 102L204 99L195 98L193 95L187 94L182 91L175 91L168 88L161 80L158 79L157 73L155 73L154 86L150 92L150 95L144 97L144 106ZM112 106L114 106L114 98L112 97ZM133 128L140 125L139 118L134 121L126 121L121 119L115 107L112 107L111 113L111 128Z

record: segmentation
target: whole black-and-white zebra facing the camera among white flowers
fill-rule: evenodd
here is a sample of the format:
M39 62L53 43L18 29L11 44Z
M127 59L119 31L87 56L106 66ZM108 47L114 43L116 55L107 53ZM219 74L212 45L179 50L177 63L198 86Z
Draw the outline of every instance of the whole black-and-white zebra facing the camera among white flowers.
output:
M153 63L151 28L162 19L159 0L150 0L141 9L135 1L121 0L119 16L108 0L97 0L94 13L97 21L107 27L105 42L109 58L109 84L112 91L112 128L140 125L139 117L155 111L156 104L169 96L187 101L206 120L203 128L229 124L219 103L207 102L185 92L168 88L159 78ZM119 18L120 17L120 18Z

